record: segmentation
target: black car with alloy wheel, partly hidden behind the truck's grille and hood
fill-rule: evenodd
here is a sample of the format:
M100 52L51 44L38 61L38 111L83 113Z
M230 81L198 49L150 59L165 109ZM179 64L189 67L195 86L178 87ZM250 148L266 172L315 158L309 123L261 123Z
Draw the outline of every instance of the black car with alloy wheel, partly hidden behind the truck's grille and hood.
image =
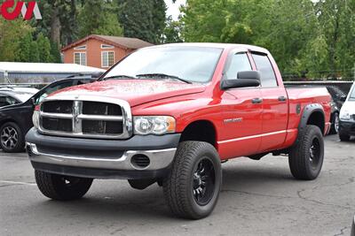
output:
M32 115L35 106L51 93L62 88L91 83L96 79L89 76L74 76L58 80L32 95L24 103L0 108L0 146L4 152L20 152L25 148L25 135L33 126Z

